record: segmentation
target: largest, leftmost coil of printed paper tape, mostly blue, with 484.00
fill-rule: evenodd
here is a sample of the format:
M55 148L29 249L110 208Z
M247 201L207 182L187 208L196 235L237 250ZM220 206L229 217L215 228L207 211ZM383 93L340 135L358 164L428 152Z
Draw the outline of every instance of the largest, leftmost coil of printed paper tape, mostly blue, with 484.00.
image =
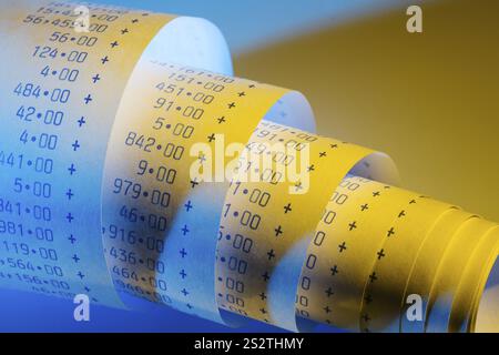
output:
M228 51L204 20L57 1L0 7L2 285L118 305L96 212L125 84L147 45L144 55L217 71L230 71Z

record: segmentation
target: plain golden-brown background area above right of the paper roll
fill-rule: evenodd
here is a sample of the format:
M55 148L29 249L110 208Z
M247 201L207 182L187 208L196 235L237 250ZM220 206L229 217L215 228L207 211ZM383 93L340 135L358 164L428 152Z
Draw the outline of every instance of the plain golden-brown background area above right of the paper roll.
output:
M499 221L499 27L496 0L405 9L242 54L240 77L302 91L318 132L379 149L404 187Z

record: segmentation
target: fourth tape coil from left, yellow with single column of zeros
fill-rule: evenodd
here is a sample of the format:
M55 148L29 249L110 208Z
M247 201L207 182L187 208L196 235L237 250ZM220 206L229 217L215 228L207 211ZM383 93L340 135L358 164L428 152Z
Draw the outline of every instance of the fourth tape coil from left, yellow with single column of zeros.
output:
M303 271L298 292L302 316L359 331L360 305L371 302L364 288L373 277L373 264L387 257L383 244L394 219L404 217L407 203L417 196L357 176L343 181L308 247L307 261L317 262L306 263Z

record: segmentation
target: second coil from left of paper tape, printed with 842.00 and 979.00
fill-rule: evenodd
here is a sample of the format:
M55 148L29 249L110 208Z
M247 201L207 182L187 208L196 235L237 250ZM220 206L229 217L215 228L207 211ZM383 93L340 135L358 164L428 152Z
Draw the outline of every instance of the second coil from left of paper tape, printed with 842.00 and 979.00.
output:
M138 64L104 178L104 245L121 288L222 322L214 260L227 183L202 181L191 170L218 164L204 148L246 142L274 105L289 116L310 116L296 92L175 64ZM144 237L130 243L116 237L116 226Z

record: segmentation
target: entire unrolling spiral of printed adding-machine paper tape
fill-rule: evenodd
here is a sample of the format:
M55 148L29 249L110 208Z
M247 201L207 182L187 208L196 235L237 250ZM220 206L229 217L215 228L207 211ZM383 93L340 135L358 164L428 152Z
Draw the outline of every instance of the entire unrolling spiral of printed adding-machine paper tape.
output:
M233 78L208 22L1 7L2 287L294 332L498 331L497 224L313 133L301 93Z

